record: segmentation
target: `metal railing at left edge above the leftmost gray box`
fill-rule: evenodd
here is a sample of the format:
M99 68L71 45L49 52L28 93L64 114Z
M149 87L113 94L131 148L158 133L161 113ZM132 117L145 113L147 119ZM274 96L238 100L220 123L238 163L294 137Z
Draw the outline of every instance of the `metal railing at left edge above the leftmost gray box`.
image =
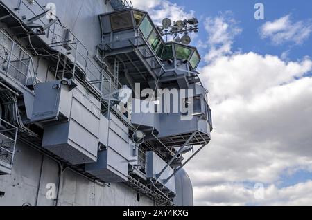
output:
M15 82L26 86L35 77L33 58L3 30L0 30L0 67ZM35 84L35 80L33 80Z

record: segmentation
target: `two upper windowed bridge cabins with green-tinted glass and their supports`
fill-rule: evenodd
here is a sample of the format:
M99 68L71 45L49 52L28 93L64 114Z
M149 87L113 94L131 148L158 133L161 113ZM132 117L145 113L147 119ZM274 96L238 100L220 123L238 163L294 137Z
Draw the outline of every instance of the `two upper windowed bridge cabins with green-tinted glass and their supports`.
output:
M104 59L119 68L121 84L141 89L200 82L200 55L193 46L164 42L147 12L126 8L100 15Z

